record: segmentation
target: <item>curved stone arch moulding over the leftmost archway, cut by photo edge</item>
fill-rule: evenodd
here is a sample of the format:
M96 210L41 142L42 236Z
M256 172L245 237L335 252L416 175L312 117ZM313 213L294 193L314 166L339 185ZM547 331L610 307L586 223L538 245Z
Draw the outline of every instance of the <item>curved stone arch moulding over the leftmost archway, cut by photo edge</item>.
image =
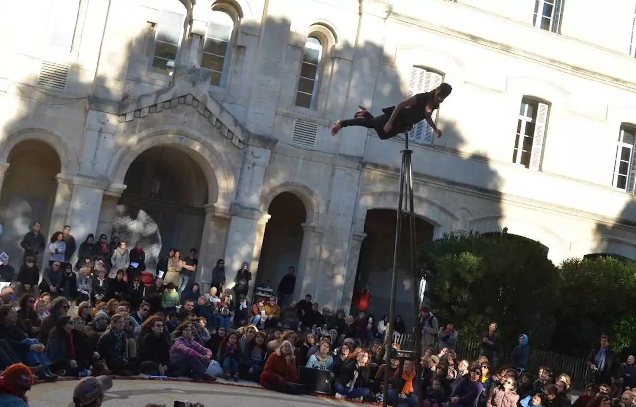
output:
M60 170L63 174L73 175L78 171L78 159L69 149L66 141L58 134L43 128L24 128L9 135L0 144L0 163L6 163L11 150L20 142L27 140L39 140L51 146L60 159Z

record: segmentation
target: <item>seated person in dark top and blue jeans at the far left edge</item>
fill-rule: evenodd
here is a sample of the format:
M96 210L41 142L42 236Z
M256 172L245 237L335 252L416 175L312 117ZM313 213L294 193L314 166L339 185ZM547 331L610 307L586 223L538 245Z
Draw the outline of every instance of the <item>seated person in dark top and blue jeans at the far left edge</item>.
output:
M40 364L42 368L39 370L39 378L43 380L53 380L50 370L51 361L48 359L45 346L39 343L37 339L29 338L29 335L18 326L18 313L11 305L3 305L0 307L0 340L6 341L12 352L8 354L15 362L25 360L31 366ZM11 355L13 354L13 355Z

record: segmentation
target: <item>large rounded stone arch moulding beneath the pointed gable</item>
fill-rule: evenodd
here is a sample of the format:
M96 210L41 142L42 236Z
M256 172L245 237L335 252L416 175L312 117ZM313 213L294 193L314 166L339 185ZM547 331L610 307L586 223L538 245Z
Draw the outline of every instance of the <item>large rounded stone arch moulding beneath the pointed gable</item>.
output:
M224 146L192 129L161 127L146 130L130 137L113 156L107 176L111 189L123 187L124 178L130 164L146 149L156 146L170 146L181 149L197 162L208 183L209 199L212 191L218 190L215 207L228 212L235 196L235 176L230 160L225 156Z

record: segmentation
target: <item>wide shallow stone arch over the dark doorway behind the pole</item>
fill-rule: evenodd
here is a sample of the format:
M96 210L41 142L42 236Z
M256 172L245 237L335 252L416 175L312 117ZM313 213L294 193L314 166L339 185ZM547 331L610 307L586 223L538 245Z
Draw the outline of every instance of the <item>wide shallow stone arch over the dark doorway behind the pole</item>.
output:
M450 231L457 229L459 217L453 212L445 209L439 203L424 197L413 197L415 205L415 216L421 217L431 223L436 230L436 237L440 231ZM395 191L371 191L360 195L359 210L356 214L356 231L363 232L366 211L370 209L394 209L397 210L399 204L399 193Z

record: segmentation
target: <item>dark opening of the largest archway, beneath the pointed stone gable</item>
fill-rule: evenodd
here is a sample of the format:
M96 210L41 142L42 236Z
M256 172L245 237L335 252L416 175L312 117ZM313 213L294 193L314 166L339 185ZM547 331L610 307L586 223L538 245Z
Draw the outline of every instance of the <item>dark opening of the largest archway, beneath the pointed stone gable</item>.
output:
M132 248L141 242L146 267L154 270L170 248L188 256L199 249L208 202L208 182L199 165L184 151L158 146L130 164L126 189L117 202L113 233ZM216 191L212 191L216 194Z

